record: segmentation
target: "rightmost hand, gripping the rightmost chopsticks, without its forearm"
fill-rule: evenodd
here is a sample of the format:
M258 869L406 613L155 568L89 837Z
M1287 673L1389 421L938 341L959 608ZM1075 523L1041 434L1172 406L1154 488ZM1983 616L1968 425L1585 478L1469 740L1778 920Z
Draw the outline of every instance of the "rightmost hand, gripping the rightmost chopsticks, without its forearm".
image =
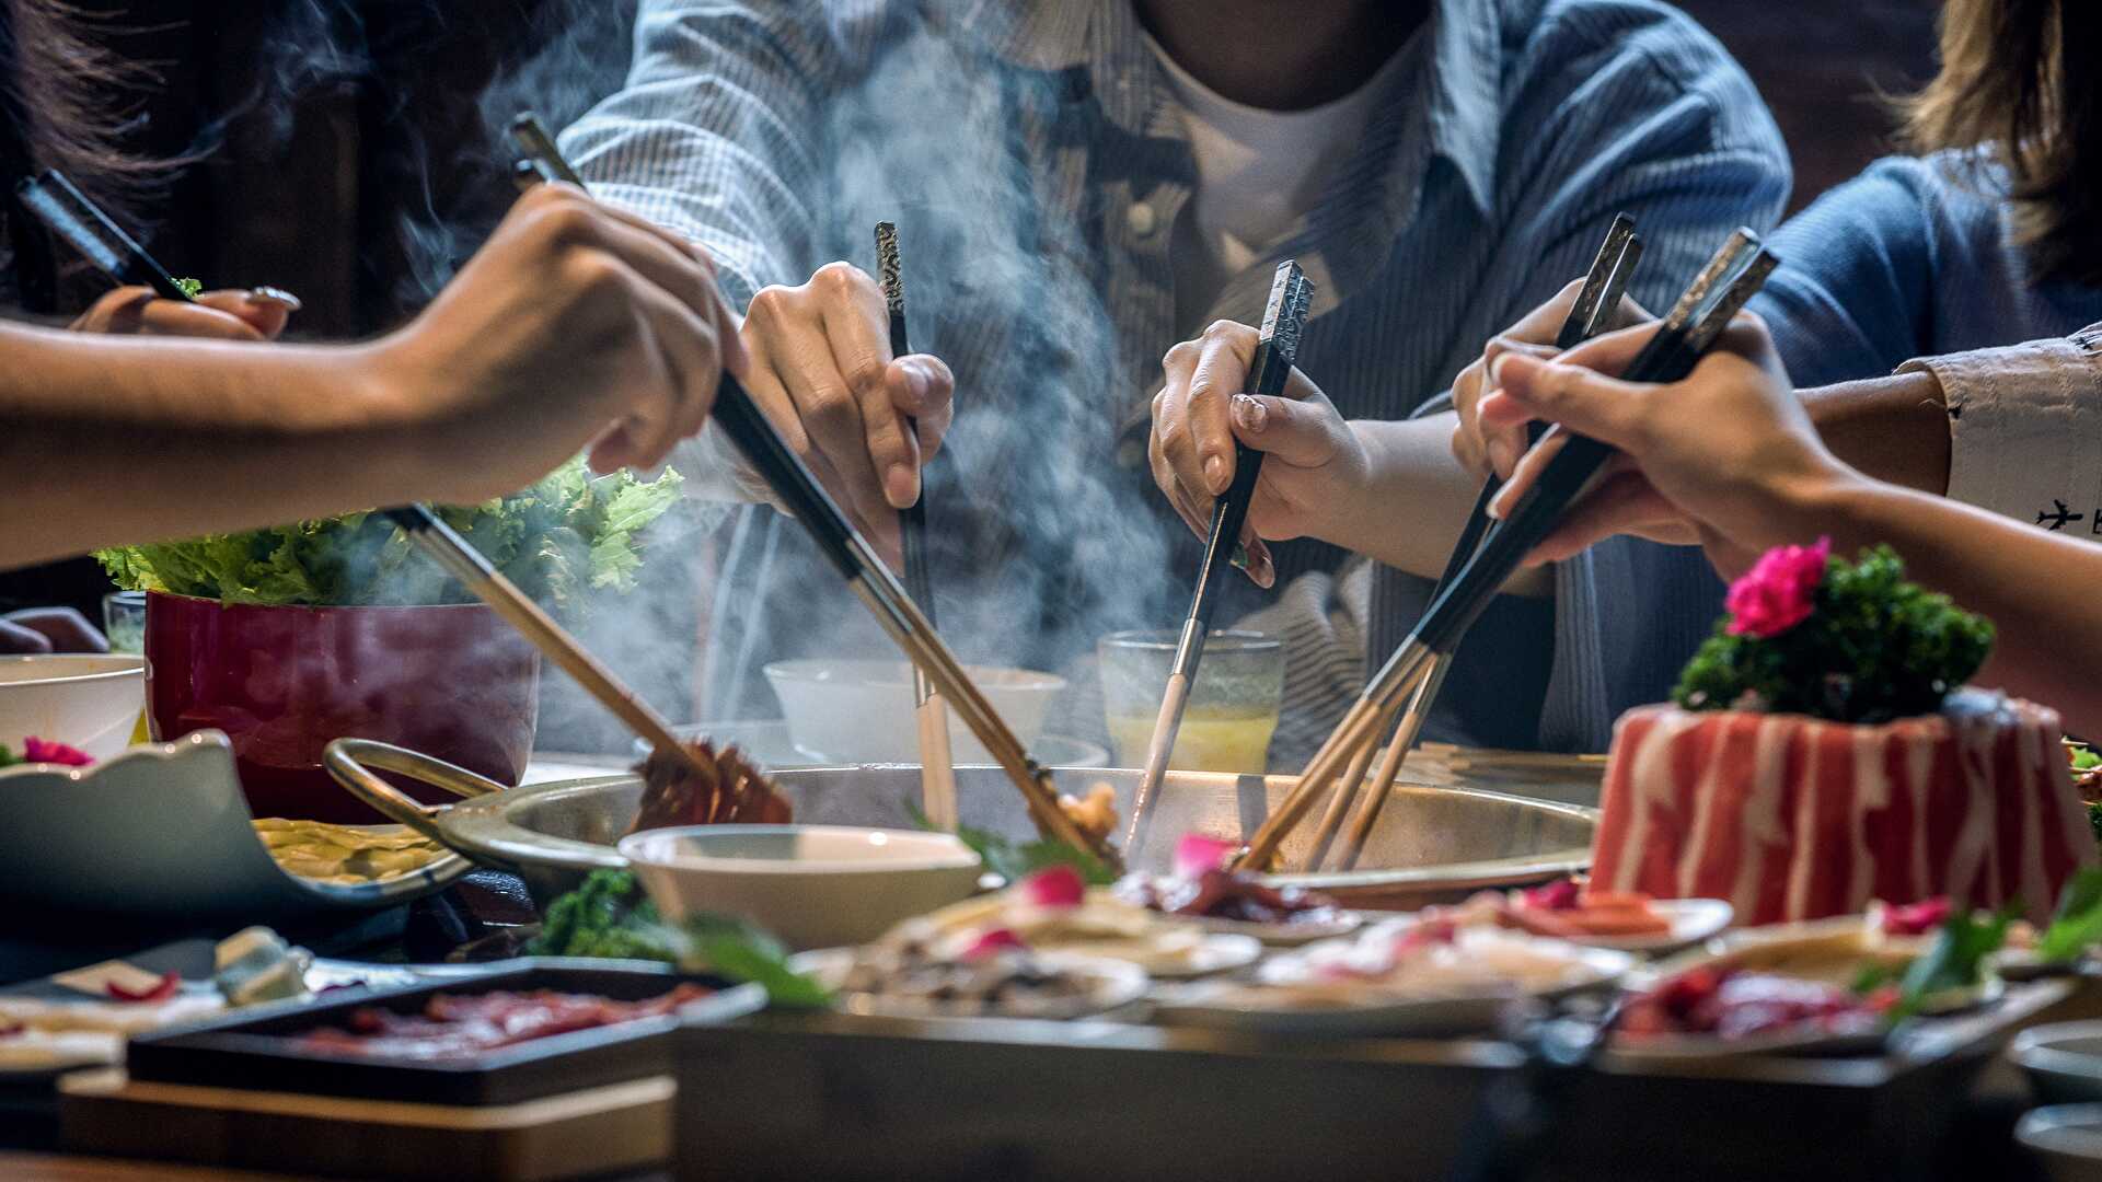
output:
M1612 332L1558 360L1507 353L1482 400L1492 431L1532 419L1560 423L1621 450L1602 480L1528 555L1558 562L1612 536L1698 541L1726 576L1759 553L1799 541L1806 507L1862 480L1818 440L1789 385L1766 324L1738 315L1715 351L1669 385L1606 376L1625 368L1654 324ZM1560 452L1551 435L1518 463L1490 505L1503 517Z

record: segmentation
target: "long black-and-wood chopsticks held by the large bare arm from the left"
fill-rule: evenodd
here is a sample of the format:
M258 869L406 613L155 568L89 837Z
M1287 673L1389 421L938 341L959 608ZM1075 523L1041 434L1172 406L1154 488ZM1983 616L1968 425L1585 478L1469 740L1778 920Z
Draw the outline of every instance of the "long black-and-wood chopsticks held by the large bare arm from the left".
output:
M561 160L547 130L538 128L538 120L530 118L530 111L513 122L513 135L519 143L532 141L536 145L530 156L544 177L576 177L576 170ZM759 410L759 404L753 402L753 395L746 393L744 383L736 374L723 372L721 385L715 389L715 408L708 416L729 435L729 442L744 461L759 471L759 477L767 482L774 496L780 498L782 507L788 509L811 543L824 553L826 562L832 564L832 570L839 572L839 578L877 618L877 625L889 633L891 641L906 652L912 665L927 671L935 690L950 700L963 724L971 728L971 734L986 745L992 759L1015 782L1015 789L1022 791L1036 829L1057 841L1089 850L1110 867L1118 867L1120 858L1106 841L1089 837L1066 816L1066 810L1057 803L1051 774L1030 757L1022 740L1015 738L1015 732L992 709L992 702L963 673L956 654L933 631L933 625L921 612L919 604L912 602L912 595L906 593L883 559L877 557L868 541L856 532L853 524L839 511L839 505L818 484L809 467L788 450L788 444L767 423L765 412Z

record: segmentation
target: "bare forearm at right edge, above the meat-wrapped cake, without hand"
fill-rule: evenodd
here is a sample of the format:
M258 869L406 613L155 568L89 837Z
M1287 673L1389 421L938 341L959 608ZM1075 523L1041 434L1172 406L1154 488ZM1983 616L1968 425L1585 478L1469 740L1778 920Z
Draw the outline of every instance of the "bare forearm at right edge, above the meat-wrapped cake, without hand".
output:
M2054 536L1909 488L1850 480L1804 501L1795 536L1831 534L1839 553L1890 543L1913 578L1993 620L1984 686L2056 707L2075 734L2102 732L2102 547Z

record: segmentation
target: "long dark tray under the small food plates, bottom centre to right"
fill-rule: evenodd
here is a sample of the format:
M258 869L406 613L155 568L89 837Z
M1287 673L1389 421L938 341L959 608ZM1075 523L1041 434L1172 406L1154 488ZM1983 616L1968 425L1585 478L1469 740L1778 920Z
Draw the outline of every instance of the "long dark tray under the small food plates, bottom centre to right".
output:
M1875 1058L1610 1064L1530 1178L1936 1178L1974 1075L2068 982ZM679 1035L681 1178L1455 1178L1518 1047L767 1014Z

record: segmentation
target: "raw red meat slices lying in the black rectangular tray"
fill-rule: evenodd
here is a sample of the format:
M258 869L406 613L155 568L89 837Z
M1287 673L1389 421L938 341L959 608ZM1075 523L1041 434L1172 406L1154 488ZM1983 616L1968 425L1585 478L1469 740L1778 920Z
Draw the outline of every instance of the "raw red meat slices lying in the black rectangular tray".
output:
M473 1058L498 1047L660 1018L681 1005L710 997L704 984L685 982L643 1001L616 1001L591 993L437 993L416 1014L395 1014L362 1005L343 1026L324 1026L301 1037L301 1047L322 1054L401 1060Z

